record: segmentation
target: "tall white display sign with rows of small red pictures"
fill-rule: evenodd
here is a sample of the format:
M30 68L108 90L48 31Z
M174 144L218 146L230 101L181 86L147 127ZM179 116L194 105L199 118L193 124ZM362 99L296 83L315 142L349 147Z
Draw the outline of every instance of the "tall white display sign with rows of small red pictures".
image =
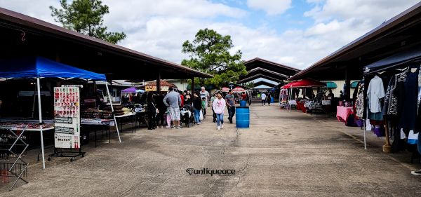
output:
M54 147L79 149L80 102L79 87L54 88Z

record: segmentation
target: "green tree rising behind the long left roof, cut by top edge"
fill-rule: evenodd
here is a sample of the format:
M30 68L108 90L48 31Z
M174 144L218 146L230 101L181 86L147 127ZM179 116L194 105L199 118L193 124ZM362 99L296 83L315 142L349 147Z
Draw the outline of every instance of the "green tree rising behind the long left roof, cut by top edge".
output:
M50 6L51 16L56 22L61 22L63 27L81 34L93 36L110 43L117 43L126 38L123 32L107 32L103 27L105 14L109 13L108 6L102 5L100 0L60 0L62 8Z

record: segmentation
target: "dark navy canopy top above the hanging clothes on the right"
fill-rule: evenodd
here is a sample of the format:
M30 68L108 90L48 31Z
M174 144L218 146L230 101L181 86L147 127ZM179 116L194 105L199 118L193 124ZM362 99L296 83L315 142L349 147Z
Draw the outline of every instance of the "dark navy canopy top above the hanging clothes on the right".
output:
M366 67L364 67L363 72L364 74L380 72L385 69L399 67L408 62L415 61L421 61L421 46L395 53L394 55L386 57L385 59L368 64Z

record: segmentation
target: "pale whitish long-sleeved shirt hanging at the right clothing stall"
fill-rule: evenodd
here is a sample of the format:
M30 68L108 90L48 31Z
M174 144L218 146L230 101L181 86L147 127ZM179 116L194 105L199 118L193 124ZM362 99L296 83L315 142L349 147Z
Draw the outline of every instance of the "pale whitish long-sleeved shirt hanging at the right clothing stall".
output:
M383 86L383 81L379 76L374 76L368 84L367 90L368 97L368 107L370 108L371 113L382 112L382 107L380 106L380 99L385 97L385 87Z

